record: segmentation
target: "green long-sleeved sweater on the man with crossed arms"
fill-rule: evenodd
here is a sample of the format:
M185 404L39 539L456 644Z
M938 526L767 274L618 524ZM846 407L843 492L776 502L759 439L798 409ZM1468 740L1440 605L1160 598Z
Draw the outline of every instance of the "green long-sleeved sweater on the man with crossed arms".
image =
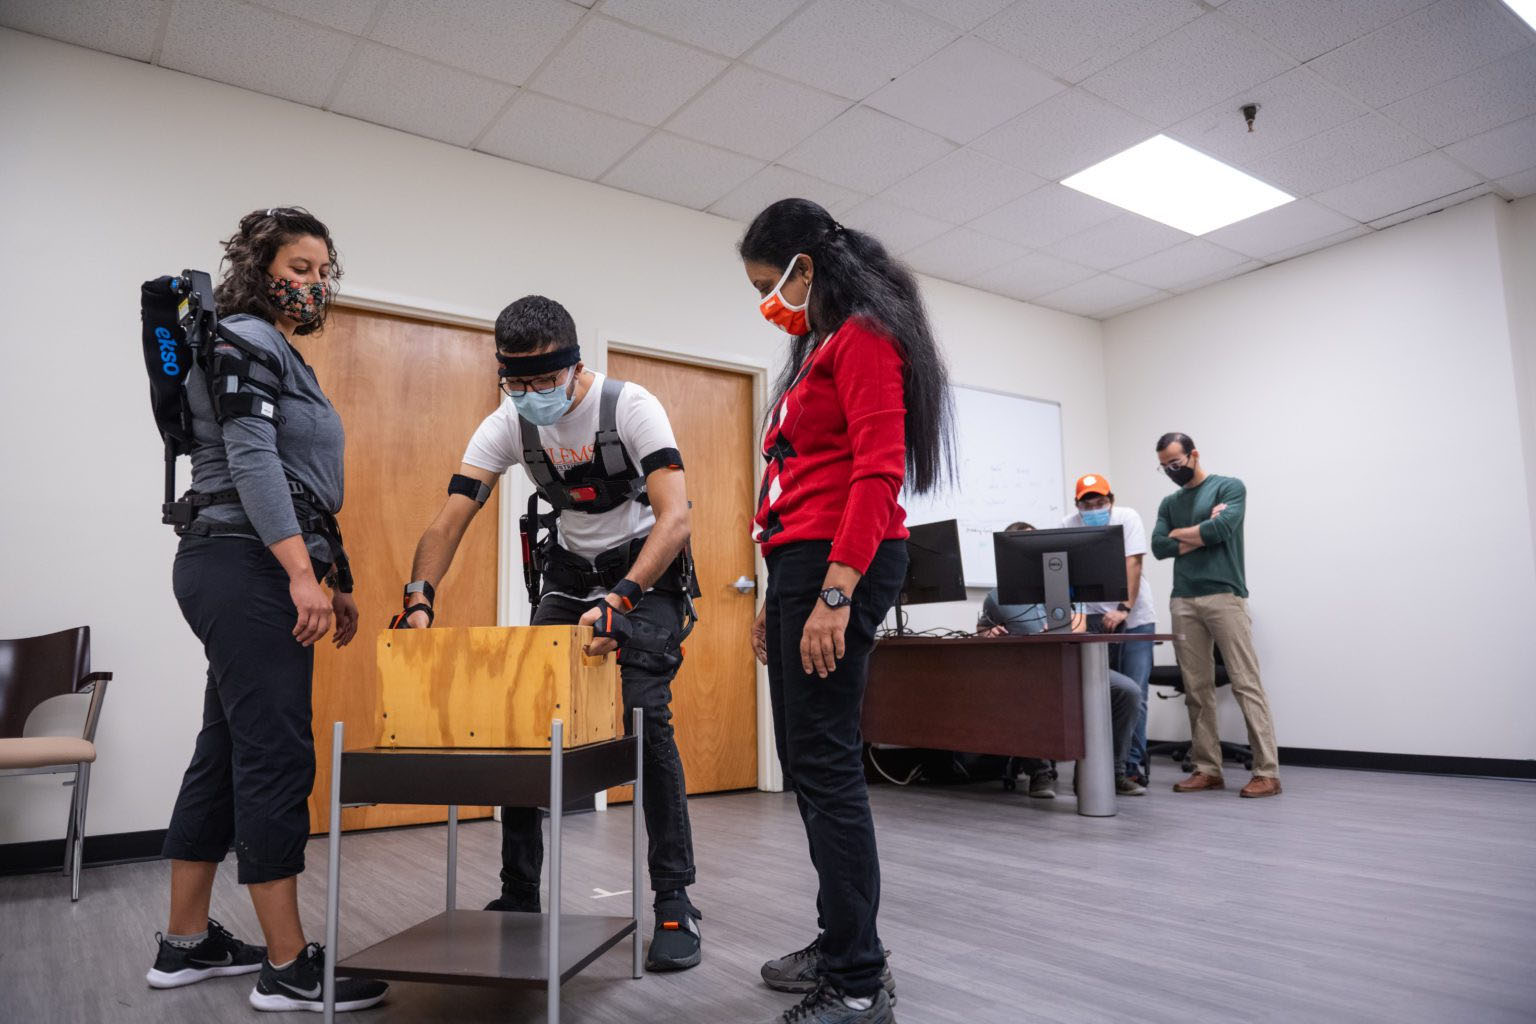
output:
M1152 531L1152 554L1174 562L1174 597L1209 597L1236 594L1247 597L1243 576L1243 516L1247 488L1235 476L1207 476L1200 487L1181 487L1157 510ZM1226 504L1215 519L1210 510ZM1178 553L1178 540L1167 534L1183 527L1200 525L1206 547L1189 554Z

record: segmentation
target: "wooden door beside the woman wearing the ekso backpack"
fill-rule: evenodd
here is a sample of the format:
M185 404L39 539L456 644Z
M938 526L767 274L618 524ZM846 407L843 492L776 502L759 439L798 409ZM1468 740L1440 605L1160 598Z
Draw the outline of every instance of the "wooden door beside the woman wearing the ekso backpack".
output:
M335 310L323 335L300 338L304 358L347 431L347 494L341 533L352 557L361 620L343 649L315 645L315 791L309 820L330 827L332 723L349 749L372 746L378 728L375 642L399 611L416 540L438 514L464 445L496 408L496 364L485 330L404 316ZM438 588L436 625L496 623L498 505L475 517L453 570ZM490 808L464 808L485 817ZM444 821L445 808L381 804L343 812L343 827Z

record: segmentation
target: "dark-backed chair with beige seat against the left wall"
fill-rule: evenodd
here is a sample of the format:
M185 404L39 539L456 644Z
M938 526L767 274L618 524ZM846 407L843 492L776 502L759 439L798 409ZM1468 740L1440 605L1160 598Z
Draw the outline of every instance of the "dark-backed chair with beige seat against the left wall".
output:
M71 901L80 900L80 860L86 835L86 800L95 763L95 728L112 672L91 671L91 626L41 637L0 640L0 778L11 775L72 775L75 792L65 831L65 874ZM78 737L25 735L26 720L40 703L65 694L91 694Z

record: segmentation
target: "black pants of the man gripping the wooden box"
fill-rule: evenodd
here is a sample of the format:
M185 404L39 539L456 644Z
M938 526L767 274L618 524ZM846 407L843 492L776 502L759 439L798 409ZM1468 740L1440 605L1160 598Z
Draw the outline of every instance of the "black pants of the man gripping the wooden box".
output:
M545 594L533 625L576 623L590 602ZM694 881L693 827L688 823L688 788L671 726L671 682L682 668L684 600L676 591L653 590L630 613L633 636L619 652L624 688L624 732L630 734L634 708L645 711L644 812L650 847L651 889L665 892ZM531 903L539 897L544 867L544 831L535 808L501 809L501 889ZM553 910L553 907L551 907Z

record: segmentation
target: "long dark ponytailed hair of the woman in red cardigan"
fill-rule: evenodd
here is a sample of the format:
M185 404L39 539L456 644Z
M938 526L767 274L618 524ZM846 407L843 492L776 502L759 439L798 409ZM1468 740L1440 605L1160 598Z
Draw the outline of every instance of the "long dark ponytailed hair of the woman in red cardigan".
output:
M906 399L906 484L919 494L954 479L954 399L949 370L938 355L928 312L912 272L874 235L843 227L809 200L779 200L759 213L736 250L742 259L773 267L790 266L797 253L811 258L811 324L829 336L849 316L863 316L885 332L902 352L902 390ZM790 361L774 382L779 404L809 355L814 335L790 345Z

